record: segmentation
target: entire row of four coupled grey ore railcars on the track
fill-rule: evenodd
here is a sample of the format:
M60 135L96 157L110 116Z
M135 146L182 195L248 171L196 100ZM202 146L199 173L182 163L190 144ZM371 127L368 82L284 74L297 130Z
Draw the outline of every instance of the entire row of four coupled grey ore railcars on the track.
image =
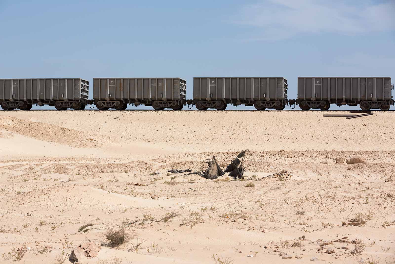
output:
M225 110L233 104L283 110L298 104L301 110L328 110L337 104L389 110L394 105L391 77L298 77L297 99L288 99L284 77L196 77L193 99L188 100L186 81L181 78L94 78L92 90L93 99L88 99L89 82L81 78L0 79L0 106L4 110L30 110L33 104L83 110L89 104L99 110L124 110L128 104L143 104L155 110L181 110L184 105Z

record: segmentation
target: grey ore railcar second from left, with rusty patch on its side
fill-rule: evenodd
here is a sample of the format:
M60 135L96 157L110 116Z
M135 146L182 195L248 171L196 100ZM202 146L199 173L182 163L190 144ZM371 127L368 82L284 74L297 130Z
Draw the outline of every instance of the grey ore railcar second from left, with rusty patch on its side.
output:
M155 110L181 110L186 81L181 78L93 78L93 103L100 110L145 104Z

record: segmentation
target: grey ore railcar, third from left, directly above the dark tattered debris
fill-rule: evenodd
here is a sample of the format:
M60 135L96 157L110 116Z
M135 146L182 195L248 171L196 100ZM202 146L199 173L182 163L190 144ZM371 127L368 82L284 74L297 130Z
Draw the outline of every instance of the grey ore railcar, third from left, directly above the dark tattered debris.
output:
M245 104L258 110L284 109L288 104L284 77L195 77L192 102L199 110L224 110L227 104Z

